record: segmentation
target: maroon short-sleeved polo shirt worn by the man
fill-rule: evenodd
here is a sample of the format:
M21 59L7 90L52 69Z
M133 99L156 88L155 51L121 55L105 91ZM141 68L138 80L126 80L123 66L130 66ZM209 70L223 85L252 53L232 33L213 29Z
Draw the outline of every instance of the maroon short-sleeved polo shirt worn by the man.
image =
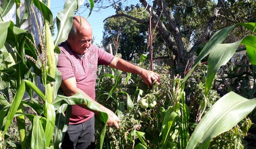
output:
M82 58L71 50L68 42L60 43L59 47L60 55L57 68L61 72L62 81L75 77L77 88L95 100L97 66L110 64L114 56L95 45L91 45ZM93 114L89 110L73 105L69 124L85 122Z

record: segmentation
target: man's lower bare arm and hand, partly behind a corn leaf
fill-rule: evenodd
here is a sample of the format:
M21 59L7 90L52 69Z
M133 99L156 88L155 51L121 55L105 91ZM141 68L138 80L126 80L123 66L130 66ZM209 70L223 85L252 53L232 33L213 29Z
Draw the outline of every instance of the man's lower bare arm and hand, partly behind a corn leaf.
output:
M112 126L112 124L116 127L116 129L119 129L119 125L118 123L120 122L119 118L116 116L116 114L114 114L111 110L107 109L106 107L102 106L101 104L99 104L98 102L96 102L95 100L93 100L90 96L88 96L83 90L80 90L79 88L77 88L76 86L76 78L72 77L72 78L68 78L66 80L63 80L61 82L60 85L61 89L64 91L66 96L72 96L75 95L76 93L81 92L86 98L88 98L91 102L93 102L94 104L97 104L100 106L100 109L104 112L106 112L108 114L108 122L107 125L108 126ZM98 114L97 111L93 111L91 109L89 109L86 104L82 104L79 105L87 110L90 110L96 114Z

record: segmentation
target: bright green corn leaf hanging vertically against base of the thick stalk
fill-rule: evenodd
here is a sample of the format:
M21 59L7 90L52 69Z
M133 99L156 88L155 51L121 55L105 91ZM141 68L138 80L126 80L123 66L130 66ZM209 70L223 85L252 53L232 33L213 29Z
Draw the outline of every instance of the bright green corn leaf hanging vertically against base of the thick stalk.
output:
M45 127L44 138L45 138L46 147L49 147L51 139L52 139L53 130L54 130L55 111L54 111L54 106L53 105L51 105L47 102L45 104L46 104L47 116L46 116L46 127Z

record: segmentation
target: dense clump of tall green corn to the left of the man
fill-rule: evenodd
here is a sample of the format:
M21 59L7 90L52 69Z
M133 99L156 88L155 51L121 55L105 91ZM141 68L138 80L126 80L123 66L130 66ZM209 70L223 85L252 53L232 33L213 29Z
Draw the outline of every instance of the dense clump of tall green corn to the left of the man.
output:
M68 33L72 26L74 12L83 4L83 0L67 0L63 11L57 15L58 35L53 41L49 26L52 25L52 12L50 11L50 1L47 5L39 0L26 1L26 10L20 20L20 1L4 1L3 8L0 9L2 16L10 11L12 5L16 4L16 24L12 21L1 20L1 116L0 128L1 138L4 139L4 147L8 142L7 130L12 119L16 117L20 136L20 148L59 148L61 141L67 131L71 107L69 105L83 104L95 111L99 111L100 120L104 123L100 148L103 144L106 131L108 115L102 112L98 105L93 104L85 98L82 93L71 97L57 95L61 83L60 71L56 68L60 49L58 44L67 40ZM91 11L93 1L91 2ZM19 28L30 16L30 6L34 4L44 17L44 32L41 33L38 25L40 47L35 43L33 35L28 31ZM31 8L34 14L33 8ZM91 12L89 13L89 15ZM37 24L37 22L36 22ZM41 52L40 52L41 51ZM33 67L34 71L31 72ZM45 87L45 94L35 85L35 76L41 77ZM10 89L8 86L10 85ZM3 88L2 88L3 87ZM11 90L14 95L12 102L7 95ZM30 100L22 99L25 91L30 96ZM33 98L35 92L43 102ZM36 114L24 113L23 106L30 106ZM66 113L64 113L66 111ZM32 129L26 135L25 116L32 122Z

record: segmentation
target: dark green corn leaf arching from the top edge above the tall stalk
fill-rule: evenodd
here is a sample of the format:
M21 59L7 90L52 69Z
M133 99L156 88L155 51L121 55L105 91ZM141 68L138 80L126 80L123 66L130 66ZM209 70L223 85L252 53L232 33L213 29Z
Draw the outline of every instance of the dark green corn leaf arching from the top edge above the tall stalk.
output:
M53 24L53 17L52 17L52 11L41 1L39 0L33 0L35 6L41 10L44 20L47 21L49 24Z

